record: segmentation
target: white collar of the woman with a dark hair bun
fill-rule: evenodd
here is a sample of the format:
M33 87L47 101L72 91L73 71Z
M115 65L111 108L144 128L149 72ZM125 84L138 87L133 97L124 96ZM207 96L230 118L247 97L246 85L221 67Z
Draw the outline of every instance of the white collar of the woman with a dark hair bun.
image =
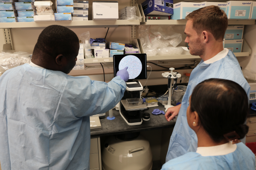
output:
M210 146L210 147L198 147L196 153L201 154L201 156L219 156L227 155L236 150L236 144L232 142L227 142L225 144Z

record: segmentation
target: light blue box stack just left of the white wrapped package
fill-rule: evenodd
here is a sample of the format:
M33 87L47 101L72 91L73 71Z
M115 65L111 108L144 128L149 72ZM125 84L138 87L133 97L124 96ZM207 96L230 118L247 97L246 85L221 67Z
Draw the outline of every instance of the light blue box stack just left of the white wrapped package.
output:
M15 8L18 14L18 22L35 22L34 2L35 0L19 0L19 2L15 2Z

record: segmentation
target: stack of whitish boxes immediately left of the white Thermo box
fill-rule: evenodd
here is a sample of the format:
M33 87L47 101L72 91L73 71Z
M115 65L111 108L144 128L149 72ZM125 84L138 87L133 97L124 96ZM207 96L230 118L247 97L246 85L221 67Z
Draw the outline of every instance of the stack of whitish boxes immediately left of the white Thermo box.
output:
M73 21L87 21L89 1L74 0Z

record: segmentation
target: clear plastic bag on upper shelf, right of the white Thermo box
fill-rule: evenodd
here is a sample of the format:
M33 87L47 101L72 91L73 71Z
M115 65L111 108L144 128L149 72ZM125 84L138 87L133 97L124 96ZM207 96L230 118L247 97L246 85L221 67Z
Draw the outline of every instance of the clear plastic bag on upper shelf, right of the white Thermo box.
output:
M136 15L136 6L127 6L122 8L119 12L118 20L140 20L141 17Z

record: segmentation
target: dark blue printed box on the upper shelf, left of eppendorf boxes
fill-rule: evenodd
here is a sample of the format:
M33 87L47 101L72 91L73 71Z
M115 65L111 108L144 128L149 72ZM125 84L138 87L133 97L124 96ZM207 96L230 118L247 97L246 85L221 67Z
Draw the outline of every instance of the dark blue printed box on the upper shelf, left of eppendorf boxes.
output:
M146 0L141 6L145 16L170 16L174 13L173 0Z

